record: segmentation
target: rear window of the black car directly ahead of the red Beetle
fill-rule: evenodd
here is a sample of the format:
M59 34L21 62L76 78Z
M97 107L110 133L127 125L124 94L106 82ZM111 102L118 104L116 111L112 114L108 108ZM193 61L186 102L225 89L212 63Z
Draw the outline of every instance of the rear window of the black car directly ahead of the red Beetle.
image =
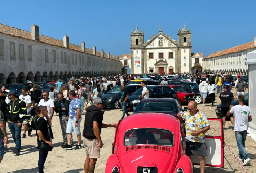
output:
M175 112L176 108L173 102L140 102L136 107L138 112Z

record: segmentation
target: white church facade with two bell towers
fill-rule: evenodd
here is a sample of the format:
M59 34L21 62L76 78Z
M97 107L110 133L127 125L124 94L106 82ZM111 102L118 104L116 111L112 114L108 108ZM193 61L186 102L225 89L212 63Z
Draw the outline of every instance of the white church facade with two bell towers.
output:
M178 30L178 40L159 29L158 34L144 42L144 33L138 27L131 31L131 73L193 72L191 31Z

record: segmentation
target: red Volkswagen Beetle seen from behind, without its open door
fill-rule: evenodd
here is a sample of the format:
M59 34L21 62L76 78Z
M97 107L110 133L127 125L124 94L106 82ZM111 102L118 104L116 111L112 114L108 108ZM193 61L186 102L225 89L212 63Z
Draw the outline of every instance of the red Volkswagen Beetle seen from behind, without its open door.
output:
M191 173L179 120L139 113L119 121L105 173Z

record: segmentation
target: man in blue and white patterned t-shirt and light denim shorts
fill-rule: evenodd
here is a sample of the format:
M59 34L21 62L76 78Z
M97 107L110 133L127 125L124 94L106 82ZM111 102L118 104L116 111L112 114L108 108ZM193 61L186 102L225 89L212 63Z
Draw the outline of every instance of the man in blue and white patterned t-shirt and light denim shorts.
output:
M82 120L81 117L81 102L78 98L76 98L75 91L69 92L69 98L71 100L69 104L69 120L67 121L67 145L63 146L63 150L71 150L71 139L72 132L74 131L77 135L77 145L75 150L79 150L81 148L81 131L80 131L80 123Z

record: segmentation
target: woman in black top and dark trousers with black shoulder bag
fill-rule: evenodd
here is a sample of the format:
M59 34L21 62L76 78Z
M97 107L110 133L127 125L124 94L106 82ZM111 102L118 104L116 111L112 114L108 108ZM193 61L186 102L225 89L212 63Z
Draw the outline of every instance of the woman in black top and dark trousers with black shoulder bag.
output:
M44 172L44 163L46 161L48 152L51 151L52 148L52 132L50 129L51 120L47 115L47 107L46 106L38 106L35 109L35 113L38 114L36 120L36 135L37 135L37 143L39 146L39 159L38 159L38 171L39 173ZM46 118L47 120L45 120ZM40 140L39 140L40 138ZM46 146L46 147L44 147Z

